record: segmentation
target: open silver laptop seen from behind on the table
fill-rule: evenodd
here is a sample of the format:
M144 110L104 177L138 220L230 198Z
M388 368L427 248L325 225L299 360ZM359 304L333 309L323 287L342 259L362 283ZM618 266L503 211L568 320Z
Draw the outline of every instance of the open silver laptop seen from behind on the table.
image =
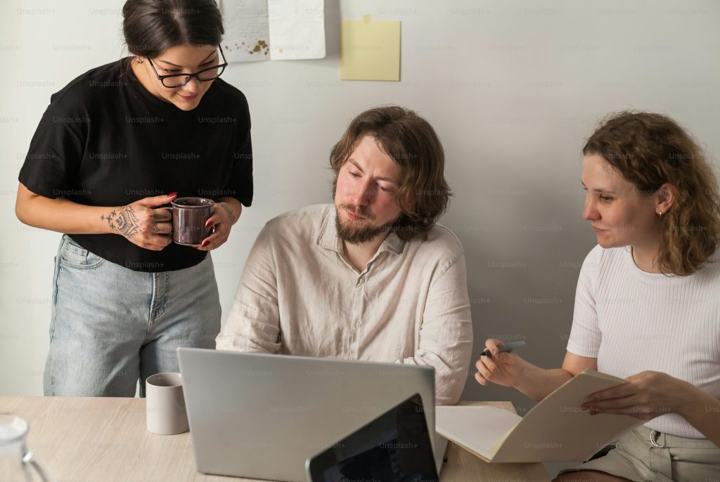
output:
M185 347L177 353L202 473L303 481L307 458L413 394L422 397L435 434L431 367ZM441 462L445 443L431 441Z

